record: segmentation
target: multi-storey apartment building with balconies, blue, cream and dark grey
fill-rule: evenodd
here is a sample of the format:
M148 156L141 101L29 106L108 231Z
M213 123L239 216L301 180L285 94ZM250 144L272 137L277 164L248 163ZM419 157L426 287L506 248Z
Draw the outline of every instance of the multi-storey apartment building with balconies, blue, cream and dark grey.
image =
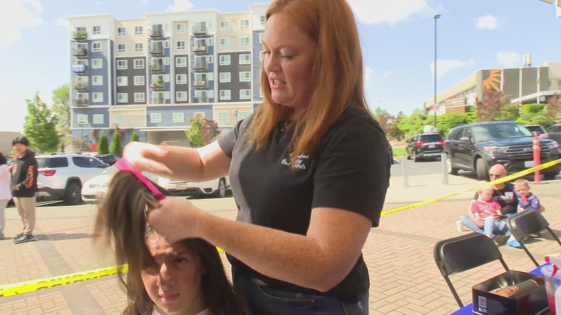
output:
M72 134L132 131L140 141L188 146L203 115L227 132L263 100L261 38L269 4L218 10L68 17ZM95 132L91 132L95 131Z

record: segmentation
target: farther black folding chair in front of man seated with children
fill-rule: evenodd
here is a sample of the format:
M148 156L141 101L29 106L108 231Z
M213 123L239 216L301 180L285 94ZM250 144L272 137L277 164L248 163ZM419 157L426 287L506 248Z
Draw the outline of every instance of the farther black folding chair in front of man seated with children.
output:
M526 245L522 242L523 239L530 236L530 234L538 234L540 231L548 230L551 233L551 236L557 243L561 245L559 238L555 236L555 233L549 228L549 223L545 220L545 217L541 215L540 211L536 210L525 210L522 212L518 212L513 216L507 217L507 226L508 229L511 231L512 235L518 240L522 249L526 252L528 257L535 263L536 267L540 266L539 263L534 259L534 256L528 251Z

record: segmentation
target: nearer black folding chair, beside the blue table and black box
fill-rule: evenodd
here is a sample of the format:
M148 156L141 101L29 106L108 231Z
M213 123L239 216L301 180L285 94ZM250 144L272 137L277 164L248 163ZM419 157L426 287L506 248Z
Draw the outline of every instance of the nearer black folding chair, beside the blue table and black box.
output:
M434 261L460 308L463 307L462 301L448 276L495 260L499 260L506 271L509 270L495 242L479 233L441 240L434 245Z

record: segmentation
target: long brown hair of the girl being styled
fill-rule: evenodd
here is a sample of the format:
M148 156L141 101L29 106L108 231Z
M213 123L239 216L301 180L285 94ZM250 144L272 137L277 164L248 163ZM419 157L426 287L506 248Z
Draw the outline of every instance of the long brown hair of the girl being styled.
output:
M162 193L162 187L154 184ZM123 315L150 314L154 303L146 293L141 272L155 264L146 240L155 232L146 222L148 193L146 186L130 172L118 172L109 183L109 189L99 205L94 235L98 245L112 246L117 265L128 263L126 281L118 272L119 282L127 294ZM229 282L217 249L203 239L181 240L185 247L197 252L205 274L201 286L205 302L213 315L245 315L241 299Z

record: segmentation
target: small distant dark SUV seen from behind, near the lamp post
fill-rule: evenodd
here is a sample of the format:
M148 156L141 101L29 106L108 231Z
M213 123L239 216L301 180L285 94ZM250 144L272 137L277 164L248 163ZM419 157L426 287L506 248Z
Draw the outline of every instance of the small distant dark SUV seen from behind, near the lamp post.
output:
M407 143L405 154L407 159L417 162L421 159L438 159L442 154L444 140L440 133L417 133Z

